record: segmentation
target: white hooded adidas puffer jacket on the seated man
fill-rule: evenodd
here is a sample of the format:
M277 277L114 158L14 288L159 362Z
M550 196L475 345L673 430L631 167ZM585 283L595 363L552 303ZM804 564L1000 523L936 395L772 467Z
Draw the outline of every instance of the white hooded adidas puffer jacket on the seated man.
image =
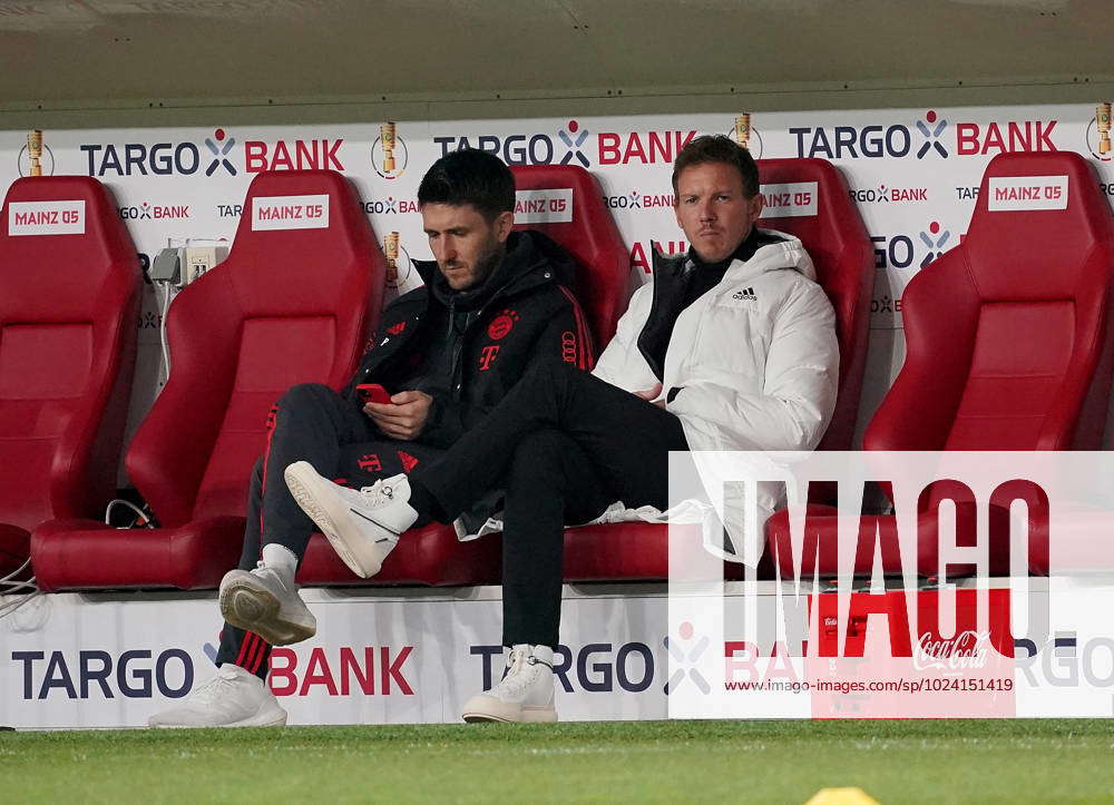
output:
M734 261L720 284L682 311L673 327L662 399L667 399L671 389L680 390L666 409L681 420L694 451L812 450L836 408L836 314L815 283L815 268L800 239L769 234L784 240L759 247L749 261ZM659 262L655 259L655 273ZM597 377L632 392L657 383L638 348L653 300L653 282L635 292L615 337L596 363L593 373ZM714 479L732 480L732 462L696 458L715 513L724 518L722 484ZM776 489L759 484L756 511L745 519L756 528L732 533L730 547L722 544L719 524L710 522L705 512L709 549L726 548L730 559L756 562L763 547L761 523L784 502L772 491ZM727 508L733 508L731 501ZM691 519L691 513L683 519ZM649 508L617 505L602 520L656 521L659 516ZM727 521L744 522L730 511Z

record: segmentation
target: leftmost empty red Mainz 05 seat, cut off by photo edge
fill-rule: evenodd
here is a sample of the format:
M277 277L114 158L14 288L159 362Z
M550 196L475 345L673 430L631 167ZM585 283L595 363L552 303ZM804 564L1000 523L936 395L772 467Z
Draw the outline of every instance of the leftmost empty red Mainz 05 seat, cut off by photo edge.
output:
M116 490L139 261L96 179L17 179L0 212L0 576L29 532Z

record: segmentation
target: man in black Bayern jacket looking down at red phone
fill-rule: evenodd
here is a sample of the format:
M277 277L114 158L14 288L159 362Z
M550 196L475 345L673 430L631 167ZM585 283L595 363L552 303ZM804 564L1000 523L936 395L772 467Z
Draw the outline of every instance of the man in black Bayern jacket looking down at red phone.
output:
M287 465L306 461L329 478L371 484L453 444L531 364L592 367L588 330L568 289L575 263L540 233L511 232L515 179L506 165L482 151L449 154L423 177L418 203L436 258L417 264L426 285L384 311L342 393L296 385L272 410L240 569L221 582L219 670L152 726L286 723L265 684L271 647L316 631L294 582L316 528L287 490ZM362 399L368 384L384 387L390 402ZM488 499L472 514L482 522L494 510ZM394 544L378 544L354 569L374 576Z

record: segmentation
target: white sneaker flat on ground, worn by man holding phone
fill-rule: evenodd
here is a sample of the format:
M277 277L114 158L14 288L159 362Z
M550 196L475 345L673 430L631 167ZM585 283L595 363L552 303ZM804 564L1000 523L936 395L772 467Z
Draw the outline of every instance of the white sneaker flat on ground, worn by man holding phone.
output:
M225 662L216 676L178 707L156 713L148 727L281 727L286 710L262 679L237 665Z

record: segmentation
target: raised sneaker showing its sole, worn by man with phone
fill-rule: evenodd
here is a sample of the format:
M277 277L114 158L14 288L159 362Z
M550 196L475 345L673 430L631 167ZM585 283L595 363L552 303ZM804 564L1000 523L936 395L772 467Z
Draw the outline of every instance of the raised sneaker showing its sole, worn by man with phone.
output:
M289 646L317 632L317 619L293 580L263 562L251 572L229 570L221 580L221 615L272 646Z

